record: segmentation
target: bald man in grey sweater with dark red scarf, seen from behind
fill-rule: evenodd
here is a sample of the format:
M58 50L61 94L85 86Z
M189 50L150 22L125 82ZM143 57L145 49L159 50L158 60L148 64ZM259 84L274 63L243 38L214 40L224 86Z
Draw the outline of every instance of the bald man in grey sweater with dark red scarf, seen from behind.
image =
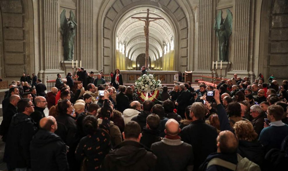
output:
M151 150L157 156L156 170L193 170L192 146L181 141L180 131L179 123L169 119L165 124L165 138L152 144Z

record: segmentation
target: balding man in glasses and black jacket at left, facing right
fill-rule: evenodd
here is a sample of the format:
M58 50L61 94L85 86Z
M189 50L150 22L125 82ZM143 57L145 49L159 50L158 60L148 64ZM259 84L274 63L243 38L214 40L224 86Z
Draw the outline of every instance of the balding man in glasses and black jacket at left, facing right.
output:
M33 119L35 123L37 123L37 127L39 128L40 120L45 117L44 110L47 106L47 101L44 97L38 96L34 100L35 108L34 112L31 113L30 117Z

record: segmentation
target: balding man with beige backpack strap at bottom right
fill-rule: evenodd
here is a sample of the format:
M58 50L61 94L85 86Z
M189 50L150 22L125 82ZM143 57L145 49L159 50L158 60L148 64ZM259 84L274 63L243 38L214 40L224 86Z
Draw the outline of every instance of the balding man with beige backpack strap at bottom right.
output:
M221 166L220 164L216 165L214 163L215 160L215 162L218 162L219 159L234 164L236 168L236 165L238 163L237 149L238 140L235 134L233 134L229 130L221 131L217 137L217 152L210 154L205 160L205 162L199 167L199 170L229 170L226 167ZM207 165L209 165L208 168Z

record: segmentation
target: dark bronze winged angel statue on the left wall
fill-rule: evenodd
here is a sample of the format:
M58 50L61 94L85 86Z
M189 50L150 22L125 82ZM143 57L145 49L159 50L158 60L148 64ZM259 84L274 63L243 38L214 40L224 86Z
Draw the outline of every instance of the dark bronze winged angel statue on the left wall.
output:
M71 10L69 21L67 20L65 13L66 10L64 9L60 15L60 32L63 39L64 60L72 60L77 23L75 21L75 15Z

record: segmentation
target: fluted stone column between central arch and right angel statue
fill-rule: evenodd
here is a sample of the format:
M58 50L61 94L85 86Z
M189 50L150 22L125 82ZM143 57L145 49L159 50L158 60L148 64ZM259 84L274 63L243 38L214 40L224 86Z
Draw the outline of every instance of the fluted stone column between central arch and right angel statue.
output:
M193 73L211 73L214 3L214 0L199 1L199 56Z

